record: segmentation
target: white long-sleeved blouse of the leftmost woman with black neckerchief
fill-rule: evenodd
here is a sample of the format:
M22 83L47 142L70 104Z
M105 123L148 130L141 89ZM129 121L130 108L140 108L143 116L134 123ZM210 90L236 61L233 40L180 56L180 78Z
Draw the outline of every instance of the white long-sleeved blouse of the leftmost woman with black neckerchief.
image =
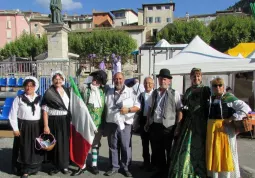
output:
M30 102L33 102L38 96L36 93L34 96L26 95ZM41 107L37 103L35 105L35 115L33 115L32 108L22 101L20 97L16 97L13 101L12 108L9 114L9 120L13 131L18 131L18 118L22 120L40 120L41 118Z

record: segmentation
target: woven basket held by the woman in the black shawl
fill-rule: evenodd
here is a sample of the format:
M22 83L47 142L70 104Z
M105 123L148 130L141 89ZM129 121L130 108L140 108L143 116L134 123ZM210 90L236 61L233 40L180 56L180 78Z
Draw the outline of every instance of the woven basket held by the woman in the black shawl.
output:
M42 144L40 144L40 141L50 140L50 146L44 147ZM56 145L56 139L54 135L52 134L41 134L39 138L36 139L35 148L37 150L45 150L45 151L51 151Z

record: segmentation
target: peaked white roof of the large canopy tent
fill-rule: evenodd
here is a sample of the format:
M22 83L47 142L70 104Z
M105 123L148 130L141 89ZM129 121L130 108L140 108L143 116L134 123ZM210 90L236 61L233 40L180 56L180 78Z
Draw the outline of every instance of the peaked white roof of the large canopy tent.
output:
M255 64L251 59L232 57L223 54L207 45L199 36L179 54L170 60L155 64L155 73L160 69L168 68L171 74L189 74L193 67L201 68L203 73L231 73L238 71L253 71Z

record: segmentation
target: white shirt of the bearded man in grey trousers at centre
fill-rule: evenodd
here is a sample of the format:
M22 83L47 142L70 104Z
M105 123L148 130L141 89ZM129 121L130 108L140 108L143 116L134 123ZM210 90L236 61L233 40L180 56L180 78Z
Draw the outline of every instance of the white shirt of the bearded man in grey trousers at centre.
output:
M121 93L115 91L115 88L110 88L106 93L106 106L107 116L106 122L116 123L121 129L124 129L125 124L133 124L135 113L127 113L125 115L120 114L122 107L133 107L140 108L140 102L137 96L134 94L133 89L125 86Z

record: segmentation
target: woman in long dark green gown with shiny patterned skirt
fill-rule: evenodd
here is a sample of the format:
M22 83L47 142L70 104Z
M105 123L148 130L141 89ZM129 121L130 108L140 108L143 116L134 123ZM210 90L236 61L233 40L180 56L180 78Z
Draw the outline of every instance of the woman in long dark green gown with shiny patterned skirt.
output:
M183 96L183 120L177 124L178 139L171 151L169 178L205 178L205 141L210 88L202 84L201 69L190 73L192 86Z

